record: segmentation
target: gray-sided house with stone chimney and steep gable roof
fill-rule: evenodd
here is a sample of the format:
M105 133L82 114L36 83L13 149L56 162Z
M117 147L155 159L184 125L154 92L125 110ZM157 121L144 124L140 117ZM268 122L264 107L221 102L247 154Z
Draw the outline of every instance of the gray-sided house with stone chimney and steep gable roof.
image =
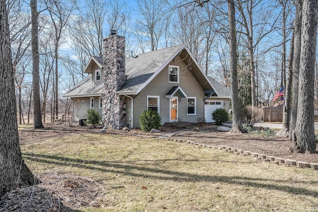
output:
M156 110L161 124L212 122L216 108L229 111L230 90L208 78L183 45L125 58L125 38L114 33L104 39L104 57L91 57L84 72L64 95L73 98L75 121L89 108L113 129L139 128L145 110Z

